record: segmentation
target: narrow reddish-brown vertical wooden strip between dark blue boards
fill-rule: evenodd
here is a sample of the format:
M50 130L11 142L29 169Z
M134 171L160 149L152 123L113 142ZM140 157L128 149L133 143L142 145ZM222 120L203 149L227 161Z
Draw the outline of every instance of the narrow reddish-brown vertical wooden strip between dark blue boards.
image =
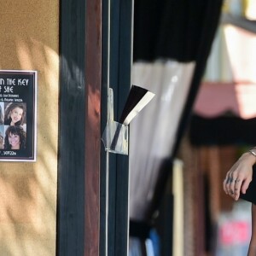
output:
M84 256L100 249L102 1L86 1Z

